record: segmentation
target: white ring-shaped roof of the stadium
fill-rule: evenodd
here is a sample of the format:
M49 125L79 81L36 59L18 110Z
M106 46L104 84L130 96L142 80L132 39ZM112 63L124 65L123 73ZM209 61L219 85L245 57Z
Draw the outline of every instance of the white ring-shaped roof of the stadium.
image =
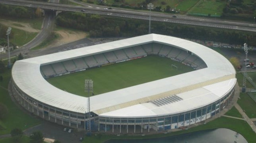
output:
M206 63L207 68L95 95L90 97L92 112L111 117L175 114L217 101L234 87L236 72L225 57L195 42L159 34L147 34L16 61L12 68L12 78L19 89L33 99L52 107L85 113L87 97L52 86L41 75L40 66L151 42L191 51ZM150 102L170 95L176 95L182 100L163 106Z

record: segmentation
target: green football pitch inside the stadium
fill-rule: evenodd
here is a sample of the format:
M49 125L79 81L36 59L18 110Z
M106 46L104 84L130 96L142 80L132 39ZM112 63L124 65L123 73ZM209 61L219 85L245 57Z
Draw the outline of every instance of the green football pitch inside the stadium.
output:
M178 67L172 68L171 65ZM87 97L85 79L93 80L95 95L194 71L192 67L166 57L150 55L82 72L49 78L47 81L66 92Z

